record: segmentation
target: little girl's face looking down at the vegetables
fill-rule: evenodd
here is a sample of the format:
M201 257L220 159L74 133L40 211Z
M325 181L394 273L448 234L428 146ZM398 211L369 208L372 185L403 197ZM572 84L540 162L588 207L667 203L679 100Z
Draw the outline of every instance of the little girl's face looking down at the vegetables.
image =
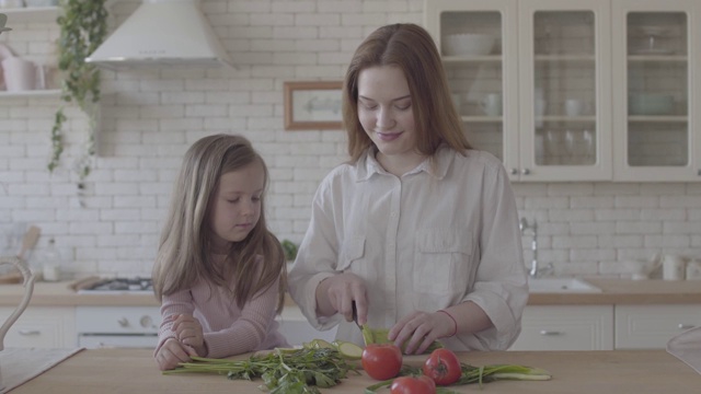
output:
M261 163L222 174L211 196L209 227L216 253L227 253L232 242L249 235L261 218L265 172Z

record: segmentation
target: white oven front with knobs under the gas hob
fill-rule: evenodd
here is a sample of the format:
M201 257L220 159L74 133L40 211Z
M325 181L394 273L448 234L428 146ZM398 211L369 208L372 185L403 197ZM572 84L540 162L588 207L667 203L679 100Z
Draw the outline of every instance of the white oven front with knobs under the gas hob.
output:
M156 348L161 313L158 306L77 306L78 346Z

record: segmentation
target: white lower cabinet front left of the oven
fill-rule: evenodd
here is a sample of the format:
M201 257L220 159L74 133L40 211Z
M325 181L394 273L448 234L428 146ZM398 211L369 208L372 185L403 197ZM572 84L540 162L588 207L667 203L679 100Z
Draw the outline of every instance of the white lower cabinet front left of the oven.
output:
M0 306L4 322L14 308ZM30 305L10 327L5 347L72 348L76 347L76 309L72 306Z

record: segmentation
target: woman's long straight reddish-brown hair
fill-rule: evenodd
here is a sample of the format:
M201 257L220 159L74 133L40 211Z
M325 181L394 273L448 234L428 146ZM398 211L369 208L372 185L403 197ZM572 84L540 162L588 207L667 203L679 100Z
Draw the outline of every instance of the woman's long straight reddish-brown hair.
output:
M358 46L346 71L342 103L350 162L357 162L372 144L358 119L358 77L363 70L376 66L398 67L406 78L418 153L433 155L441 143L459 152L472 148L462 131L430 34L413 23L397 23L372 32Z

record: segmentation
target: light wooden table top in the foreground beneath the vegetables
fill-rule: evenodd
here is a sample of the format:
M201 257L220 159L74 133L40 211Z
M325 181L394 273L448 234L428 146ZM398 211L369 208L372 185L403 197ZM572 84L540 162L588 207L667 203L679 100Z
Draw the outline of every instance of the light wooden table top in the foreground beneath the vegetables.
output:
M515 363L549 370L545 382L499 381L459 386L461 393L699 393L701 375L664 350L612 351L492 351L460 354L472 366ZM424 357L405 358L417 364ZM363 393L372 384L361 373L327 393ZM150 349L83 350L39 376L16 387L23 393L261 393L260 381L229 381L214 374L163 375ZM382 390L379 393L389 393Z

